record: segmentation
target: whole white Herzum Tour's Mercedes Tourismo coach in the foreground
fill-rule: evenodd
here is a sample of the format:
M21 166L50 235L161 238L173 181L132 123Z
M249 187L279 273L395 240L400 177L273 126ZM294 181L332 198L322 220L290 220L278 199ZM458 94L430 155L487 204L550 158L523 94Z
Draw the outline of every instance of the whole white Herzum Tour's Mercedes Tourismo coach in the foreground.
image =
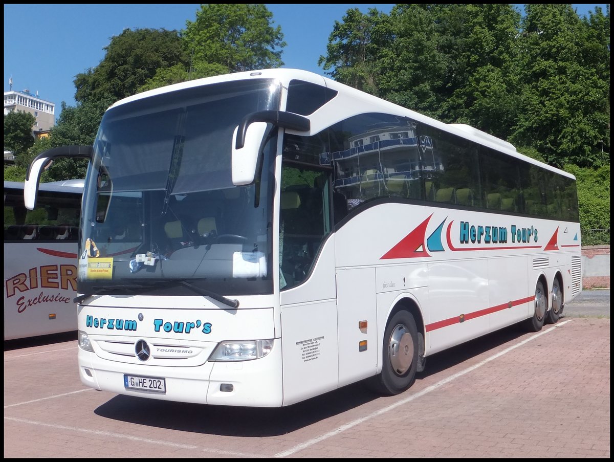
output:
M511 324L581 291L575 178L467 125L295 69L113 104L80 223L79 374L152 399L281 407ZM120 222L134 251L109 252ZM552 350L556 348L554 345Z

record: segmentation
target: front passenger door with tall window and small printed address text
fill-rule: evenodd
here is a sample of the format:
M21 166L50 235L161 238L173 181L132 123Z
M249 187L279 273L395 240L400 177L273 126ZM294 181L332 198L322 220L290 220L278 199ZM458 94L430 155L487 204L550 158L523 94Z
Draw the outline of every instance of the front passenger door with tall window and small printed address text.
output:
M279 270L284 405L335 390L335 241L328 175L282 165Z

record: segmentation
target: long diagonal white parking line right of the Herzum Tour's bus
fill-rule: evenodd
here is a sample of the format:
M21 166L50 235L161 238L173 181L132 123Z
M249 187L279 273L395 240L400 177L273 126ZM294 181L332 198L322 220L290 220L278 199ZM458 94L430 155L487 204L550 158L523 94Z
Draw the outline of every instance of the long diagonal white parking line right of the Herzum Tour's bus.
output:
M395 402L394 404L391 404L389 406L383 407L382 409L376 410L375 412L372 412L370 415L366 415L365 417L356 419L354 421L351 421L349 423L346 423L345 425L341 425L340 427L334 429L333 431L329 431L328 433L323 434L322 436L318 436L316 438L310 439L308 441L305 441L304 443L301 443L299 445L296 445L293 448L290 448L284 452L279 452L276 455L274 455L274 457L287 457L287 456L291 456L294 453L297 453L300 450L303 450L311 445L314 445L316 443L319 443L321 441L324 441L325 439L328 439L332 436L336 436L338 434L343 433L346 430L349 430L357 425L360 425L361 423L363 423L364 421L370 420L373 417L378 417L378 415L382 415L392 409L395 409L399 406L402 406L403 404L407 404L410 401L414 401L414 399L418 399L421 396L424 396L427 393L430 393L431 391L435 391L438 388L441 388L441 386L446 385L446 383L452 382L453 380L455 380L456 378L462 377L462 375L468 374L469 372L472 372L472 370L478 369L478 367L484 366L484 364L487 364L488 362L494 361L494 359L499 358L499 356L503 356L503 354L509 353L511 350L515 350L515 348L518 347L522 347L525 343L530 342L531 340L535 340L537 339L537 337L540 337L541 335L544 334L548 334L548 332L553 331L554 329L558 328L558 327L562 327L565 324L569 323L570 321L572 321L572 319L567 319L567 321L562 321L561 323L555 324L554 326L550 327L550 329L546 329L545 331L540 331L537 332L537 334L532 335L531 337L529 337L528 339L524 339L522 342L516 343L516 345L512 345L509 348L506 348L503 351L500 351L497 354L493 354L492 356L490 356L489 358L484 359L484 361L478 362L478 364L474 364L471 367L467 367L467 369L465 370L461 370L461 372L457 372L454 375L451 375L448 378L444 378L443 380L440 380L439 382L428 386L427 388L425 388L424 390L419 391L416 394L412 394L411 396L406 397L405 399L402 399L401 401Z

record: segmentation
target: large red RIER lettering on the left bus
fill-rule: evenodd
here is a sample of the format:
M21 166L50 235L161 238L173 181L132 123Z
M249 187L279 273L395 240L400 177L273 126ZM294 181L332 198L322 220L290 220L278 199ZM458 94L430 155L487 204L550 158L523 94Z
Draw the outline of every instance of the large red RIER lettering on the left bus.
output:
M58 281L58 278L60 279ZM63 289L69 286L73 291L77 290L77 267L75 265L44 265L30 268L28 274L19 273L16 276L6 278L4 289L7 298L15 295L17 291L26 292L30 289Z

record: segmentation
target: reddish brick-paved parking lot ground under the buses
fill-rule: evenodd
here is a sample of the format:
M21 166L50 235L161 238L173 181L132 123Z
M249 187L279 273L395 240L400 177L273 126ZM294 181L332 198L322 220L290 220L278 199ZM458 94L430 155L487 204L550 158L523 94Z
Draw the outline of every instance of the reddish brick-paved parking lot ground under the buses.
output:
M89 390L75 340L6 350L4 456L609 458L610 319L555 326L435 355L400 396L357 384L284 409Z

